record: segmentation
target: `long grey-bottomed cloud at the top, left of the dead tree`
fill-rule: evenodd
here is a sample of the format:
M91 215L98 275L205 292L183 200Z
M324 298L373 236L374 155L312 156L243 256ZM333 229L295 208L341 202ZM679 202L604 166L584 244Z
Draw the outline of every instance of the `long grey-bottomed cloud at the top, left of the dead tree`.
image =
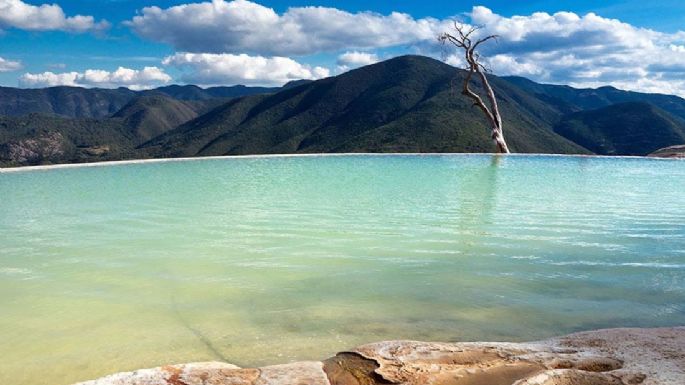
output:
M180 51L289 56L434 40L449 23L327 7L293 7L278 14L248 0L213 0L146 7L126 24L139 36Z

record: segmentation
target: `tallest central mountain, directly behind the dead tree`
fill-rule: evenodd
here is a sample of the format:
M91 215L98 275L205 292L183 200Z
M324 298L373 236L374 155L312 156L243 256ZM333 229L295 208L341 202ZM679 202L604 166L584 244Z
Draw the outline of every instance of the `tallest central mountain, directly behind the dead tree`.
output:
M342 75L233 100L143 145L152 157L312 152L486 152L481 112L455 95L463 76L403 56ZM493 78L517 152L588 153L549 129L556 112Z

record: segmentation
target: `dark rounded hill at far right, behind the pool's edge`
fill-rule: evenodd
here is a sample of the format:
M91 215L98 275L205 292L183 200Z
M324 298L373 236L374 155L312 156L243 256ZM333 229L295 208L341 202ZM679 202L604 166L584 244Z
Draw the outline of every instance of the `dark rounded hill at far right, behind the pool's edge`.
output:
M600 155L647 155L685 143L685 123L646 102L575 112L565 116L554 131Z

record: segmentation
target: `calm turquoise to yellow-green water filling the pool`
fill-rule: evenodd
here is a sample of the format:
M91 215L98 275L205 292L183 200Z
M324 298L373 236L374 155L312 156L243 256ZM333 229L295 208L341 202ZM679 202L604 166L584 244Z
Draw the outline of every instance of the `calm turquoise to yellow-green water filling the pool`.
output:
M684 192L685 162L625 158L0 173L0 384L685 325Z

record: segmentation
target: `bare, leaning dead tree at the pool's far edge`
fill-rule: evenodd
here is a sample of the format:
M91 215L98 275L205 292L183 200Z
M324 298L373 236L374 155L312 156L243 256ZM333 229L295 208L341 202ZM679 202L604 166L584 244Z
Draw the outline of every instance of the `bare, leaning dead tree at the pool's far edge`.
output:
M492 127L491 137L493 142L495 143L495 146L497 147L497 152L500 154L508 154L509 147L507 146L507 142L504 140L504 134L502 133L502 116L499 113L499 107L497 106L495 92L492 90L490 82L488 82L488 79L485 76L487 69L479 61L480 55L478 54L478 52L476 52L476 48L478 48L479 45L485 43L488 40L497 39L498 36L488 35L481 38L475 38L472 37L472 35L474 34L474 32L478 31L480 27L469 27L467 29L463 25L460 25L458 23L454 24L454 29L457 32L456 35L452 35L450 33L445 32L442 35L440 35L438 39L443 44L451 43L457 48L464 50L464 57L466 59L467 65L466 70L468 72L466 73L466 77L464 78L464 84L461 93L462 95L471 98L473 100L473 105L480 108L480 110L483 111L485 117L490 122L490 125ZM486 106L483 102L483 99L480 96L478 96L478 94L473 92L471 88L469 88L469 84L471 83L471 79L473 78L474 74L476 74L480 78L481 83L483 84L483 88L485 89L488 101L490 102L490 107Z

